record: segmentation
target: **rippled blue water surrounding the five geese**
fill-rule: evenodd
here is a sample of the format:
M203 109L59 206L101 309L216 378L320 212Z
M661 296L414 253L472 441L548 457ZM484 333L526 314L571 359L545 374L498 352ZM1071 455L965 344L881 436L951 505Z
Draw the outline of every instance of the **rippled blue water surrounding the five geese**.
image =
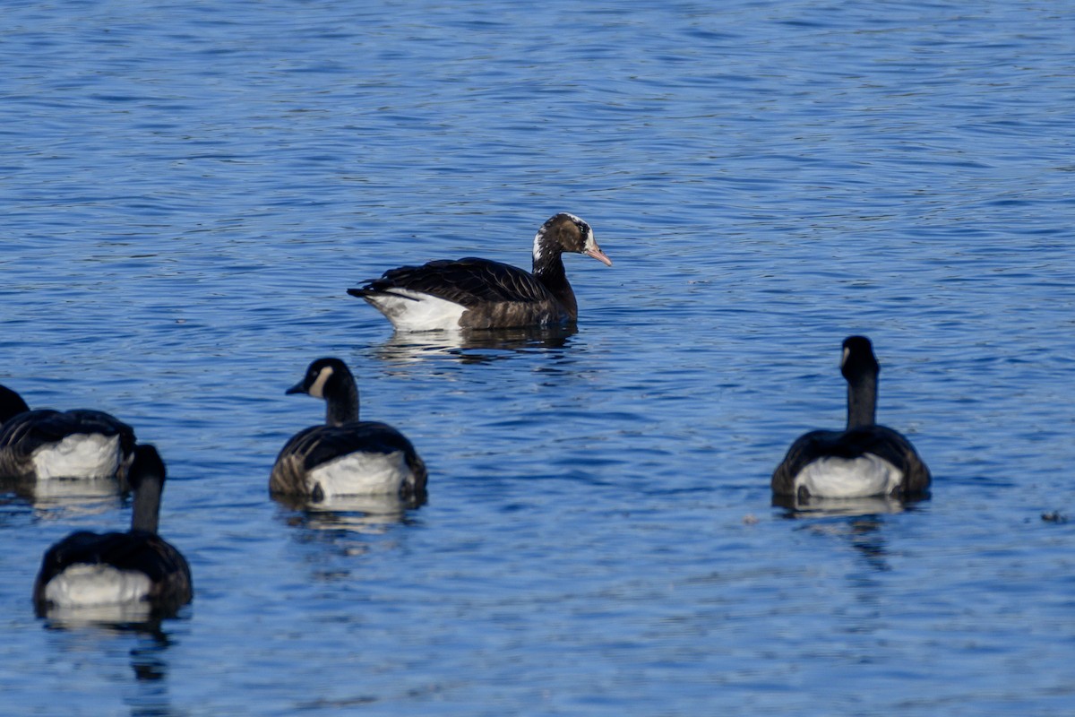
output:
M0 383L169 463L197 596L32 616L129 505L0 505L18 715L1059 714L1075 705L1075 15L1030 2L8 3ZM404 262L528 266L567 210L577 333L392 338ZM879 418L913 511L769 475ZM271 501L318 356L431 469L402 519Z

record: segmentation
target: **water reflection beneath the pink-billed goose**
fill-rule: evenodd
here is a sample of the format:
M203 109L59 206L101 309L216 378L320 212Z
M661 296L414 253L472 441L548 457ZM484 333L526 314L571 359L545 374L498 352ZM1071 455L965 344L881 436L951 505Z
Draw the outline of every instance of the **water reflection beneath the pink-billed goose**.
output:
M519 354L567 348L577 332L574 326L396 332L375 349L375 355L389 363L428 358L491 363Z

